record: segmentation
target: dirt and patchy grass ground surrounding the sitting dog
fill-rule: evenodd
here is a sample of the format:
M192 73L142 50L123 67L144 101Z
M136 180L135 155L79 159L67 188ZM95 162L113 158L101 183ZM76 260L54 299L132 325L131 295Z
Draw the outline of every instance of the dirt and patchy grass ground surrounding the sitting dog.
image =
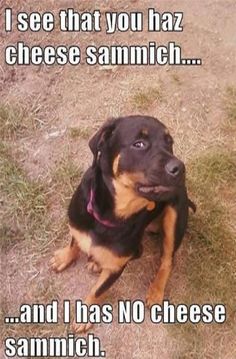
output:
M69 5L68 5L69 3ZM224 324L101 324L94 333L107 358L236 357L235 344L235 123L236 32L234 0L206 1L10 1L0 12L183 11L182 33L59 33L16 31L0 34L0 216L1 315L17 315L21 303L84 298L95 280L82 256L62 274L48 262L68 241L66 207L81 174L91 163L88 138L111 116L158 117L175 139L175 152L187 167L190 197L198 210L177 254L166 298L172 303L224 303ZM181 44L198 67L178 66L14 66L4 63L4 48L27 44ZM156 238L145 236L141 259L128 265L109 291L118 299L145 299L159 261ZM148 312L146 313L148 317ZM4 325L1 337L65 335L69 327ZM126 338L128 340L126 341ZM3 353L3 347L2 347ZM3 354L2 354L3 357Z

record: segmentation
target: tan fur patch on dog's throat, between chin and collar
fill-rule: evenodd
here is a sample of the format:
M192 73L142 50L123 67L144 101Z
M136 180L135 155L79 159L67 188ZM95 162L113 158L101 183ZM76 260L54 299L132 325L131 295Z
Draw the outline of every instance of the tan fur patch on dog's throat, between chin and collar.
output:
M135 191L136 183L145 183L142 173L122 173L113 180L115 188L115 215L119 218L128 218L146 208L151 211L155 202L149 201Z

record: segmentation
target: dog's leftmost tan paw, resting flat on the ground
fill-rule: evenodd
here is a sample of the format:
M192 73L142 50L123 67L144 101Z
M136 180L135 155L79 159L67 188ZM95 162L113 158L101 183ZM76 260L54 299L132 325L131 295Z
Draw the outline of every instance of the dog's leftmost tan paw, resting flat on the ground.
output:
M55 272L61 272L66 267L68 267L77 257L78 253L72 250L70 246L58 249L50 260L50 267Z

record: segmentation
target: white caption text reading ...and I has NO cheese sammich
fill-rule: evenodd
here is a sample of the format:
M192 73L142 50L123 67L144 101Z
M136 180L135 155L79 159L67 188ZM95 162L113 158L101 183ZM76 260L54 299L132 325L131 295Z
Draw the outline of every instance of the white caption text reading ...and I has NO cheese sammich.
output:
M87 306L81 300L75 301L74 314L71 315L71 303L63 301L62 320L64 324L70 324L73 320L76 325L81 323L110 324L114 322L113 307L111 304L93 304ZM141 324L146 318L145 304L141 300L131 302L119 301L117 307L117 321L121 325L131 323ZM222 324L226 320L226 309L223 304L185 304L174 305L168 300L163 305L154 304L149 311L149 320L157 324ZM18 317L6 317L6 324L58 324L59 303L53 300L49 304L23 304ZM101 348L101 342L93 334L75 336L70 333L67 337L20 337L18 339L8 337L5 340L5 354L7 357L105 357L106 352Z

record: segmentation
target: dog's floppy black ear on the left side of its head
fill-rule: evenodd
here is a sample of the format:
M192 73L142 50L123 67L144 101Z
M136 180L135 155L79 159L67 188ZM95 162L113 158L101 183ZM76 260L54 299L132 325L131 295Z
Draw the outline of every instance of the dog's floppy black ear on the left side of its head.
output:
M104 144L111 137L112 132L114 131L117 125L117 119L109 119L90 139L89 147L94 155L95 161L97 160L99 152L102 151Z

